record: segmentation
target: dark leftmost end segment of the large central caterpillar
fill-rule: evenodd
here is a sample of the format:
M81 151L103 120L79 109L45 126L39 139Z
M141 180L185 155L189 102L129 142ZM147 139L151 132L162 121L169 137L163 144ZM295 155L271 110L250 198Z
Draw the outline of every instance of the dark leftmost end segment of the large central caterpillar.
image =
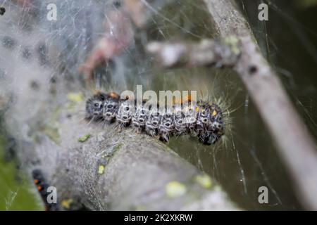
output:
M102 117L102 111L104 108L104 101L108 96L103 93L95 94L92 98L89 98L86 102L86 118L99 120Z

